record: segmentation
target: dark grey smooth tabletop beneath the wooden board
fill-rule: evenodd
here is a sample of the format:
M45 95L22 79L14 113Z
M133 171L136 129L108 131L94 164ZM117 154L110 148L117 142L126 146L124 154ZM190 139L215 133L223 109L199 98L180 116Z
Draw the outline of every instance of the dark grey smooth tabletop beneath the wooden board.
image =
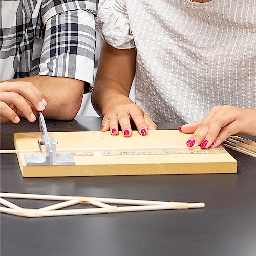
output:
M49 131L99 130L101 119L47 120ZM178 125L160 123L159 129ZM1 148L13 132L37 123L1 125ZM255 137L253 138L255 140ZM229 151L237 174L22 178L15 154L1 155L1 191L205 202L205 209L27 219L1 214L6 255L256 255L256 159ZM49 202L13 200L23 207Z

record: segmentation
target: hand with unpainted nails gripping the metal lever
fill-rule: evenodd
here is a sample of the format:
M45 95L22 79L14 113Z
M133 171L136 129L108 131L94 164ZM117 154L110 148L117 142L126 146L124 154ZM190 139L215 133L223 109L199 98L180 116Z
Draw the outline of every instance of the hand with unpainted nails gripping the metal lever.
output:
M30 82L0 83L0 123L18 123L19 116L34 122L37 111L43 111L46 105L41 91Z

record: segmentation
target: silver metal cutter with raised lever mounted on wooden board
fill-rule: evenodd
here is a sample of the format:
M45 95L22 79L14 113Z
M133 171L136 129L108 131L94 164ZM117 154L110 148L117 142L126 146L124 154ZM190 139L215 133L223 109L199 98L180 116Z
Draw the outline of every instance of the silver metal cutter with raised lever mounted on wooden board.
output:
M42 112L39 112L39 127L42 141L38 141L41 153L25 154L26 166L48 166L48 165L75 165L71 153L57 152L57 141L52 135L48 135L45 118Z

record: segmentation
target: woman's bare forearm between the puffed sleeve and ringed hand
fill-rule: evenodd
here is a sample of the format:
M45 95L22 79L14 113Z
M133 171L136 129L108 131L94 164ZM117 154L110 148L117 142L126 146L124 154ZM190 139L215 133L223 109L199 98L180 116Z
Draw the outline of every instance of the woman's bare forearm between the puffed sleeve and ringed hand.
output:
M92 104L104 115L112 102L128 99L135 75L135 49L119 50L103 42Z

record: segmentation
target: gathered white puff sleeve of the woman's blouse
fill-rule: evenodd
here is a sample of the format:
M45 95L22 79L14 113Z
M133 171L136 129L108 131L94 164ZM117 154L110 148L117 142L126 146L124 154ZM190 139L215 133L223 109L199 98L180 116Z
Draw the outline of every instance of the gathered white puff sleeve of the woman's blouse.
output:
M96 29L115 48L135 48L125 0L100 0Z

